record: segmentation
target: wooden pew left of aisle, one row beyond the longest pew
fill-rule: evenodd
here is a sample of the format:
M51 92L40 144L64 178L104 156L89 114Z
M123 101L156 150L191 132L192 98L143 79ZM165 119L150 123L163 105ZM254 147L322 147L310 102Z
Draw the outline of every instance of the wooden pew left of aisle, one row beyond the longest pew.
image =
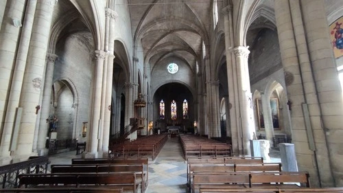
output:
M91 164L91 165L73 165L73 164L60 164L51 165L51 174L54 173L132 173L136 174L137 182L141 183L141 192L143 193L147 185L147 173L144 171L143 164L139 165L121 165L120 163L109 163L109 164Z

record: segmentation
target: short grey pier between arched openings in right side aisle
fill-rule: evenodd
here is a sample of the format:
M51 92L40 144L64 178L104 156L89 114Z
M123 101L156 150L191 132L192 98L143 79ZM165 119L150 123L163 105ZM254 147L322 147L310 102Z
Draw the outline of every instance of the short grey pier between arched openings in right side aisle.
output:
M261 92L261 103L265 129L265 139L270 141L270 144L272 144L274 137L274 126L272 121L272 112L270 111L271 107L269 95L265 95L263 92Z

